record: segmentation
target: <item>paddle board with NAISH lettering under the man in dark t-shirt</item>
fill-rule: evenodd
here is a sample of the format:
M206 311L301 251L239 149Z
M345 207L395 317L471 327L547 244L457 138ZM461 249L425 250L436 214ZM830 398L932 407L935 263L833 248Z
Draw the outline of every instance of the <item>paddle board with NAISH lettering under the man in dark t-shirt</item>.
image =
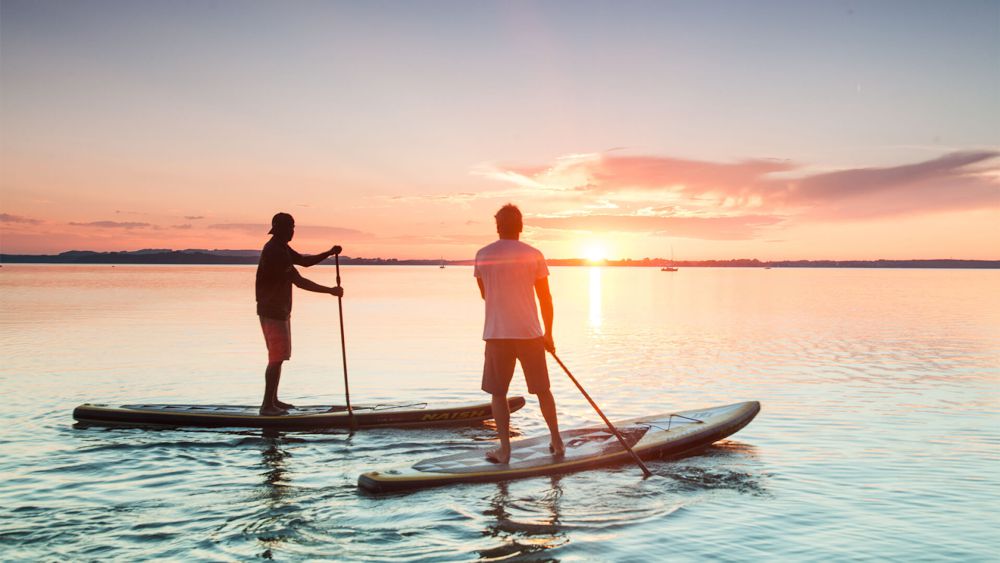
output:
M524 397L507 400L511 411L524 406ZM230 405L93 405L73 410L73 418L100 426L194 426L243 428L350 428L347 407L295 407L281 416L261 416L260 407ZM490 403L428 408L426 403L355 405L357 428L426 427L468 424L493 418Z

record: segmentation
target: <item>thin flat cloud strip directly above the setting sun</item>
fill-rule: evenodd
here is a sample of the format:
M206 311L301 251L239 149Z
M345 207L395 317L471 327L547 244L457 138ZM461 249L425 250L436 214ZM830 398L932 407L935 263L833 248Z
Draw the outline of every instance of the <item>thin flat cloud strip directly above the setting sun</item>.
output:
M709 240L754 238L763 227L776 225L782 217L743 215L732 217L664 217L641 215L576 215L525 219L526 226L576 231L617 231Z

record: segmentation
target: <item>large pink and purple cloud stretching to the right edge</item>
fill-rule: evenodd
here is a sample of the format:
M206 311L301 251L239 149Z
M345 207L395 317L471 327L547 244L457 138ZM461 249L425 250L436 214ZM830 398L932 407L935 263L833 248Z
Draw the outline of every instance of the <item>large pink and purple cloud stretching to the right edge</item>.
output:
M788 160L735 163L667 156L570 155L548 167L498 170L490 178L518 186L547 186L580 195L584 209L633 213L638 205L673 207L669 215L735 212L820 220L990 209L1000 205L1000 151L953 152L888 167L818 174ZM526 172L532 177L521 177ZM512 178L517 178L513 180ZM536 192L537 196L556 198ZM566 203L565 198L562 198ZM589 201L589 204L583 202ZM581 211L578 209L577 211ZM668 215L668 213L658 213Z

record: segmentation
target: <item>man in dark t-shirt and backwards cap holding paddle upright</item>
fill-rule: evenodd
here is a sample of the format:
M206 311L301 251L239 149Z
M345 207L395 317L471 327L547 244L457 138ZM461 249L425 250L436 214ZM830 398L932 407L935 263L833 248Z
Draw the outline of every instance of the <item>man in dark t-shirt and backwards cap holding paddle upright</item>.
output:
M278 400L278 382L281 364L292 357L292 285L306 291L343 296L341 287L326 287L302 277L295 266L309 267L319 264L341 248L334 246L322 254L303 256L292 250L288 242L295 236L295 219L288 213L278 213L271 219L273 235L260 253L257 264L257 315L267 344L267 370L264 372L264 399L260 414L280 416L288 414L292 405Z

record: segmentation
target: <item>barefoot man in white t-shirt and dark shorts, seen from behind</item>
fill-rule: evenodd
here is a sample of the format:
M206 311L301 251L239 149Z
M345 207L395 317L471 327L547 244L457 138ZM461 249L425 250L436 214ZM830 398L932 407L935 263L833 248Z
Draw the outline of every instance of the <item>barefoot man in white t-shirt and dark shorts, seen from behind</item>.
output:
M549 372L545 351L555 351L552 341L552 294L549 293L549 269L545 257L536 248L518 239L523 223L521 211L507 204L494 216L500 240L476 253L474 275L479 292L486 301L486 361L483 366L483 391L493 396L493 418L500 436L500 447L490 450L486 459L494 463L510 462L510 407L507 388L514 377L514 364L528 383L528 392L538 397L538 404L549 427L549 448L555 455L565 452L559 437L556 403L549 390ZM545 332L538 324L535 295L542 310Z

